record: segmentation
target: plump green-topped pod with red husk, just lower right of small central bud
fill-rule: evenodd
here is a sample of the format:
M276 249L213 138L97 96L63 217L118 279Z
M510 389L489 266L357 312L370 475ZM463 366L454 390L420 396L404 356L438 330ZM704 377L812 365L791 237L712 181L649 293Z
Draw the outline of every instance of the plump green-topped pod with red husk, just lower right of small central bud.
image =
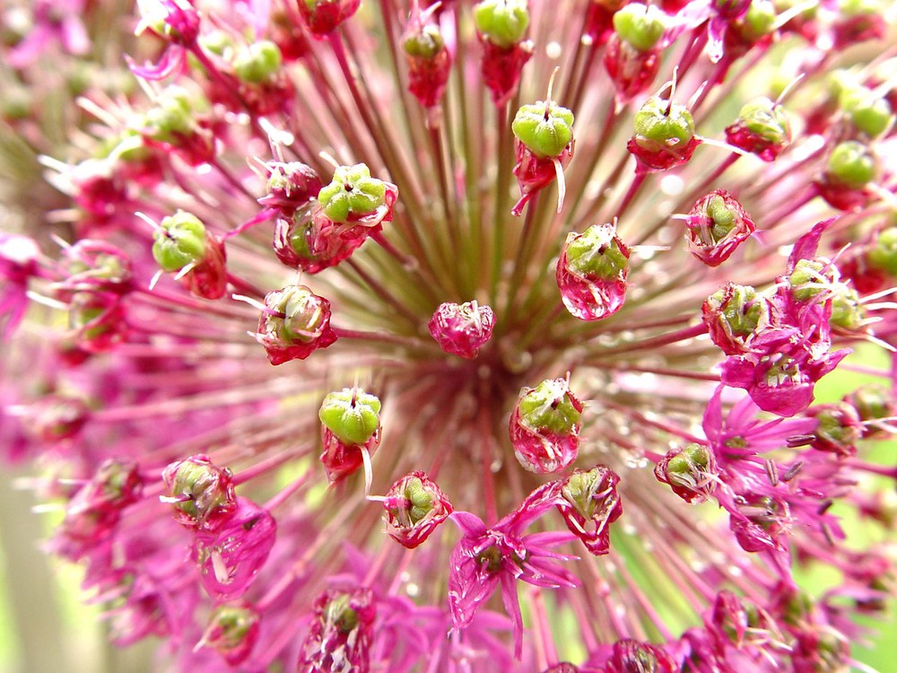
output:
M514 455L530 472L559 472L576 459L582 403L570 392L570 380L548 379L521 391L510 415Z

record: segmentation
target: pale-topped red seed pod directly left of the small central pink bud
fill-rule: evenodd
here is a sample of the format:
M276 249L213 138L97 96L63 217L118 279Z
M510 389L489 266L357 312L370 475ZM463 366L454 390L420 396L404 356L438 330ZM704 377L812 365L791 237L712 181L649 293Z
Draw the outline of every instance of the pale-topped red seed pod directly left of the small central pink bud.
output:
M272 364L304 360L318 348L336 341L330 327L330 302L305 285L290 285L267 293L266 310L255 335Z

